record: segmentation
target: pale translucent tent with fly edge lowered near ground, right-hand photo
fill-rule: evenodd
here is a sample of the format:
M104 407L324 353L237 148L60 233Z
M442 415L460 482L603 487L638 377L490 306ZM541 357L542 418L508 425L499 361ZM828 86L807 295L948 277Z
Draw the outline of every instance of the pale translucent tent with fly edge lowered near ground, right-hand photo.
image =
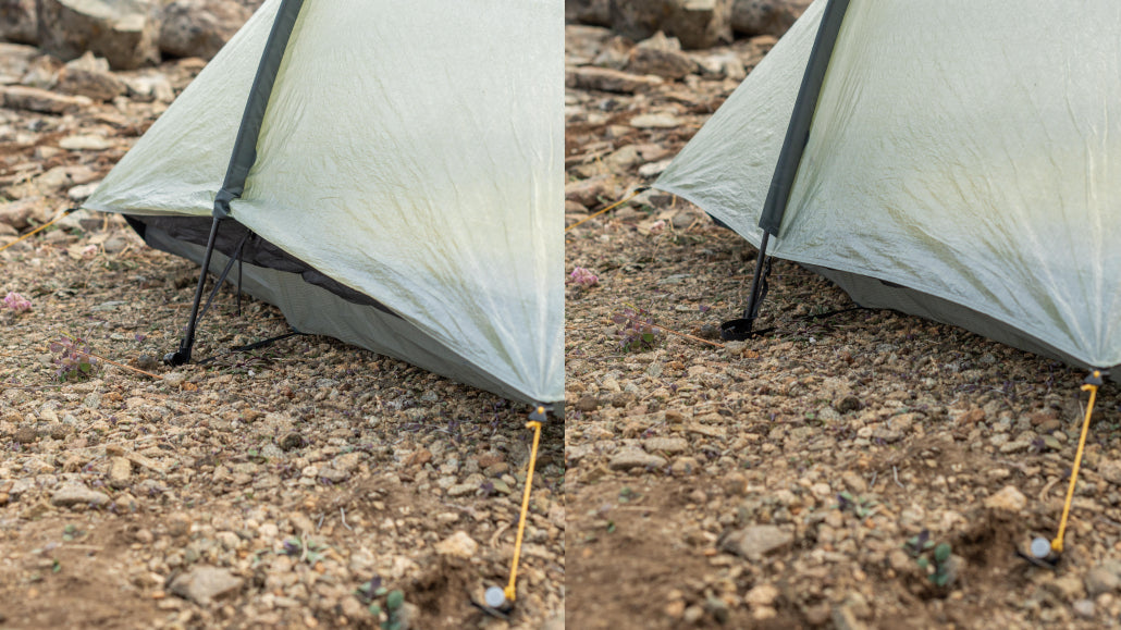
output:
M863 306L1118 365L1118 33L1110 0L816 0L655 187Z

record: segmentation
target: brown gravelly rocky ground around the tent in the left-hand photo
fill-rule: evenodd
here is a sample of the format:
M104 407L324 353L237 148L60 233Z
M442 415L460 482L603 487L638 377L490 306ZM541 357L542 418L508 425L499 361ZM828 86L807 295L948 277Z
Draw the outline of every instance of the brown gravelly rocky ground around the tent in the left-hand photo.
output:
M0 247L89 195L203 65L0 44ZM558 423L517 605L488 615L472 600L509 576L526 409L330 339L226 353L287 330L229 289L195 350L217 359L166 368L197 269L115 216L68 215L0 269L0 299L24 298L0 305L0 626L564 627Z

